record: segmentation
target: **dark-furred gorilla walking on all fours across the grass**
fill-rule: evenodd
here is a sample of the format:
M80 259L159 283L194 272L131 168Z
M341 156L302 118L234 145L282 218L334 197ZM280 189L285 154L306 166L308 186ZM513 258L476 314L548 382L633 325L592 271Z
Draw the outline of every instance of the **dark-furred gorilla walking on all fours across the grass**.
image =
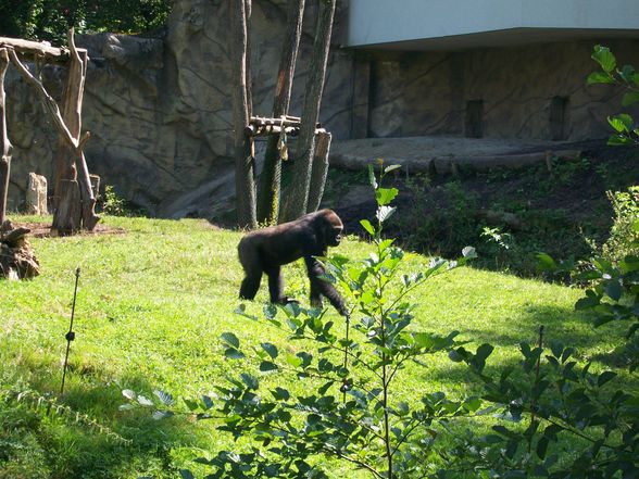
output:
M286 303L283 295L281 265L304 259L311 281L311 304L322 306L322 297L343 316L348 315L344 302L337 290L320 279L324 267L314 256L326 256L328 247L337 247L343 225L333 210L321 210L293 222L251 231L239 242L239 260L246 277L240 298L252 300L260 289L262 273L268 276L272 303Z

